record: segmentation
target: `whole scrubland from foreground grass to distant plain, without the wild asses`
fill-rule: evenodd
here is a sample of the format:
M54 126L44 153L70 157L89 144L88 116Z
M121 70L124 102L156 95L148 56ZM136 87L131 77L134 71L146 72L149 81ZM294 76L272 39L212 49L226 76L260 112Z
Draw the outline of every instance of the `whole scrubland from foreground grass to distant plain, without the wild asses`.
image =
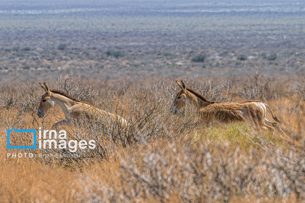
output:
M305 201L304 13L117 3L1 5L1 202ZM172 114L175 80L211 101L267 103L286 136L251 123L204 126L192 107ZM38 136L64 117L59 107L38 117L39 82L129 127L56 129L94 149L7 149L7 129ZM10 134L11 146L32 144L30 133Z

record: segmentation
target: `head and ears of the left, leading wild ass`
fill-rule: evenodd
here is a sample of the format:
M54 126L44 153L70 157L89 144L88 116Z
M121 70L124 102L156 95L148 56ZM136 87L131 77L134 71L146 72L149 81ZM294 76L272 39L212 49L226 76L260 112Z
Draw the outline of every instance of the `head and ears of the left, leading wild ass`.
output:
M52 92L50 91L47 83L43 83L44 86L39 82L40 86L42 89L45 90L45 93L41 96L40 104L39 104L39 109L37 111L38 117L43 117L50 108L54 107L54 101L51 100Z

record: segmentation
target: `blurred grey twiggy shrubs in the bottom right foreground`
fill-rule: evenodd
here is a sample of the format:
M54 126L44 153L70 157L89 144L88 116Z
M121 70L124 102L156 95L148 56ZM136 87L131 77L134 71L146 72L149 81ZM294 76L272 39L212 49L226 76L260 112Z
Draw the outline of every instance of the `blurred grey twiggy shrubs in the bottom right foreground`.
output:
M231 202L231 197L249 196L262 202L278 197L304 200L304 150L290 142L294 149L284 152L254 135L261 149L246 153L203 140L195 148L169 142L161 151L141 144L137 156L131 152L120 158L120 182L82 177L83 196L90 202L166 202L173 195L183 202Z

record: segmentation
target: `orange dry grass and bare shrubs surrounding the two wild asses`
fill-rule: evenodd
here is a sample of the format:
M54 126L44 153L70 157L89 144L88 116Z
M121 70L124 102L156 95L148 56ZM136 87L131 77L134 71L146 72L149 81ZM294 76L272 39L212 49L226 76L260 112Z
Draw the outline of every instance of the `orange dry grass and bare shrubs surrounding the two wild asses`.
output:
M51 129L63 113L54 108L37 117L38 82L2 85L0 197L3 202L305 201L304 80L261 73L186 80L209 100L268 103L284 121L287 139L278 132L253 131L250 124L203 128L192 108L172 115L174 80L80 81L67 75L47 81L50 88L130 123L129 129L120 129L110 120L101 124L97 115L97 121L63 126L68 139L96 141L95 149L77 149L83 158L7 158L6 153L72 152L6 149L6 129ZM12 145L30 143L17 133L12 139Z

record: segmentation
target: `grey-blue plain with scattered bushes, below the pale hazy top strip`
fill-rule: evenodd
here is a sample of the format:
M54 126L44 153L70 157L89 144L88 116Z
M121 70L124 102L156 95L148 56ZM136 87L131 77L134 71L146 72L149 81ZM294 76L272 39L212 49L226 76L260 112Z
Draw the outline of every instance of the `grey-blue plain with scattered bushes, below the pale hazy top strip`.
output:
M212 76L214 71L238 75L253 68L266 74L302 74L304 19L302 12L182 16L167 12L144 16L86 12L86 18L79 12L64 16L0 13L0 74L15 75L12 70L26 74L24 70L29 70L37 78L45 70L60 75L82 68L107 78L99 72L100 67L106 67L115 77L125 77L127 70L131 75L139 74L132 64L140 64L141 74L147 77L152 73L169 75L172 68L167 64L177 62L177 75L185 75L185 70L189 76L199 77ZM239 57L240 53L247 57ZM28 69L23 68L24 62L31 63Z

